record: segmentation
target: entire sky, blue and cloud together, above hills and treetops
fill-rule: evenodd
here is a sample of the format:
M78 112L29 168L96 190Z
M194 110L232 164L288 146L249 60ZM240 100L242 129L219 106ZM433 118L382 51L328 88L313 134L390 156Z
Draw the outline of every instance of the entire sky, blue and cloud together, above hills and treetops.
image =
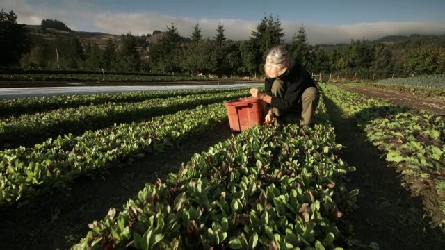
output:
M175 24L189 37L200 24L204 38L218 23L232 40L245 40L265 16L281 20L289 41L304 26L309 44L375 40L385 35L444 35L445 0L0 0L22 24L58 19L75 31L133 35Z

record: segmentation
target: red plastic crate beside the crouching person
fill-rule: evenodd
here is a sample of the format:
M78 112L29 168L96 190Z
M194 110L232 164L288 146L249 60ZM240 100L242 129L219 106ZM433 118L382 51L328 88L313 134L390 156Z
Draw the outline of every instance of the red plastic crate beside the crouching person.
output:
M225 103L230 129L242 131L264 122L266 103L254 97L240 98Z

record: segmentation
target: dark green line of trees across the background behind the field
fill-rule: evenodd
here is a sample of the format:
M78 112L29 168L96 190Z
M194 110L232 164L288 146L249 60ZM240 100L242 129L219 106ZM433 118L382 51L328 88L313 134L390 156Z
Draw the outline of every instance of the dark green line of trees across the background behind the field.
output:
M272 15L261 19L250 38L243 41L227 39L221 23L211 38L203 37L200 24L193 27L190 38L182 37L171 24L166 31L156 31L159 39L154 42L147 42L150 34L127 33L118 40L108 40L104 47L79 38L31 39L26 28L17 24L17 15L12 11L2 10L0 23L1 51L6 55L0 58L1 66L262 76L267 51L285 44L294 58L317 74L388 78L394 74L445 73L445 35L412 35L405 40L406 37L394 37L392 44L363 39L349 44L310 45L304 26L298 28L291 41L284 41L281 20ZM70 30L62 22L43 23Z

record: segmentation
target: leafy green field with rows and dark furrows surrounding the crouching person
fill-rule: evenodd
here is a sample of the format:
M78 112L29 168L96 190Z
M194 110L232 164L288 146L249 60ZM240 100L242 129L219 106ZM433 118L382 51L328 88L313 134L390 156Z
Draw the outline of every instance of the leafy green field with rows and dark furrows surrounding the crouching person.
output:
M443 117L328 86L314 128L231 133L248 96L0 101L1 249L445 248Z

